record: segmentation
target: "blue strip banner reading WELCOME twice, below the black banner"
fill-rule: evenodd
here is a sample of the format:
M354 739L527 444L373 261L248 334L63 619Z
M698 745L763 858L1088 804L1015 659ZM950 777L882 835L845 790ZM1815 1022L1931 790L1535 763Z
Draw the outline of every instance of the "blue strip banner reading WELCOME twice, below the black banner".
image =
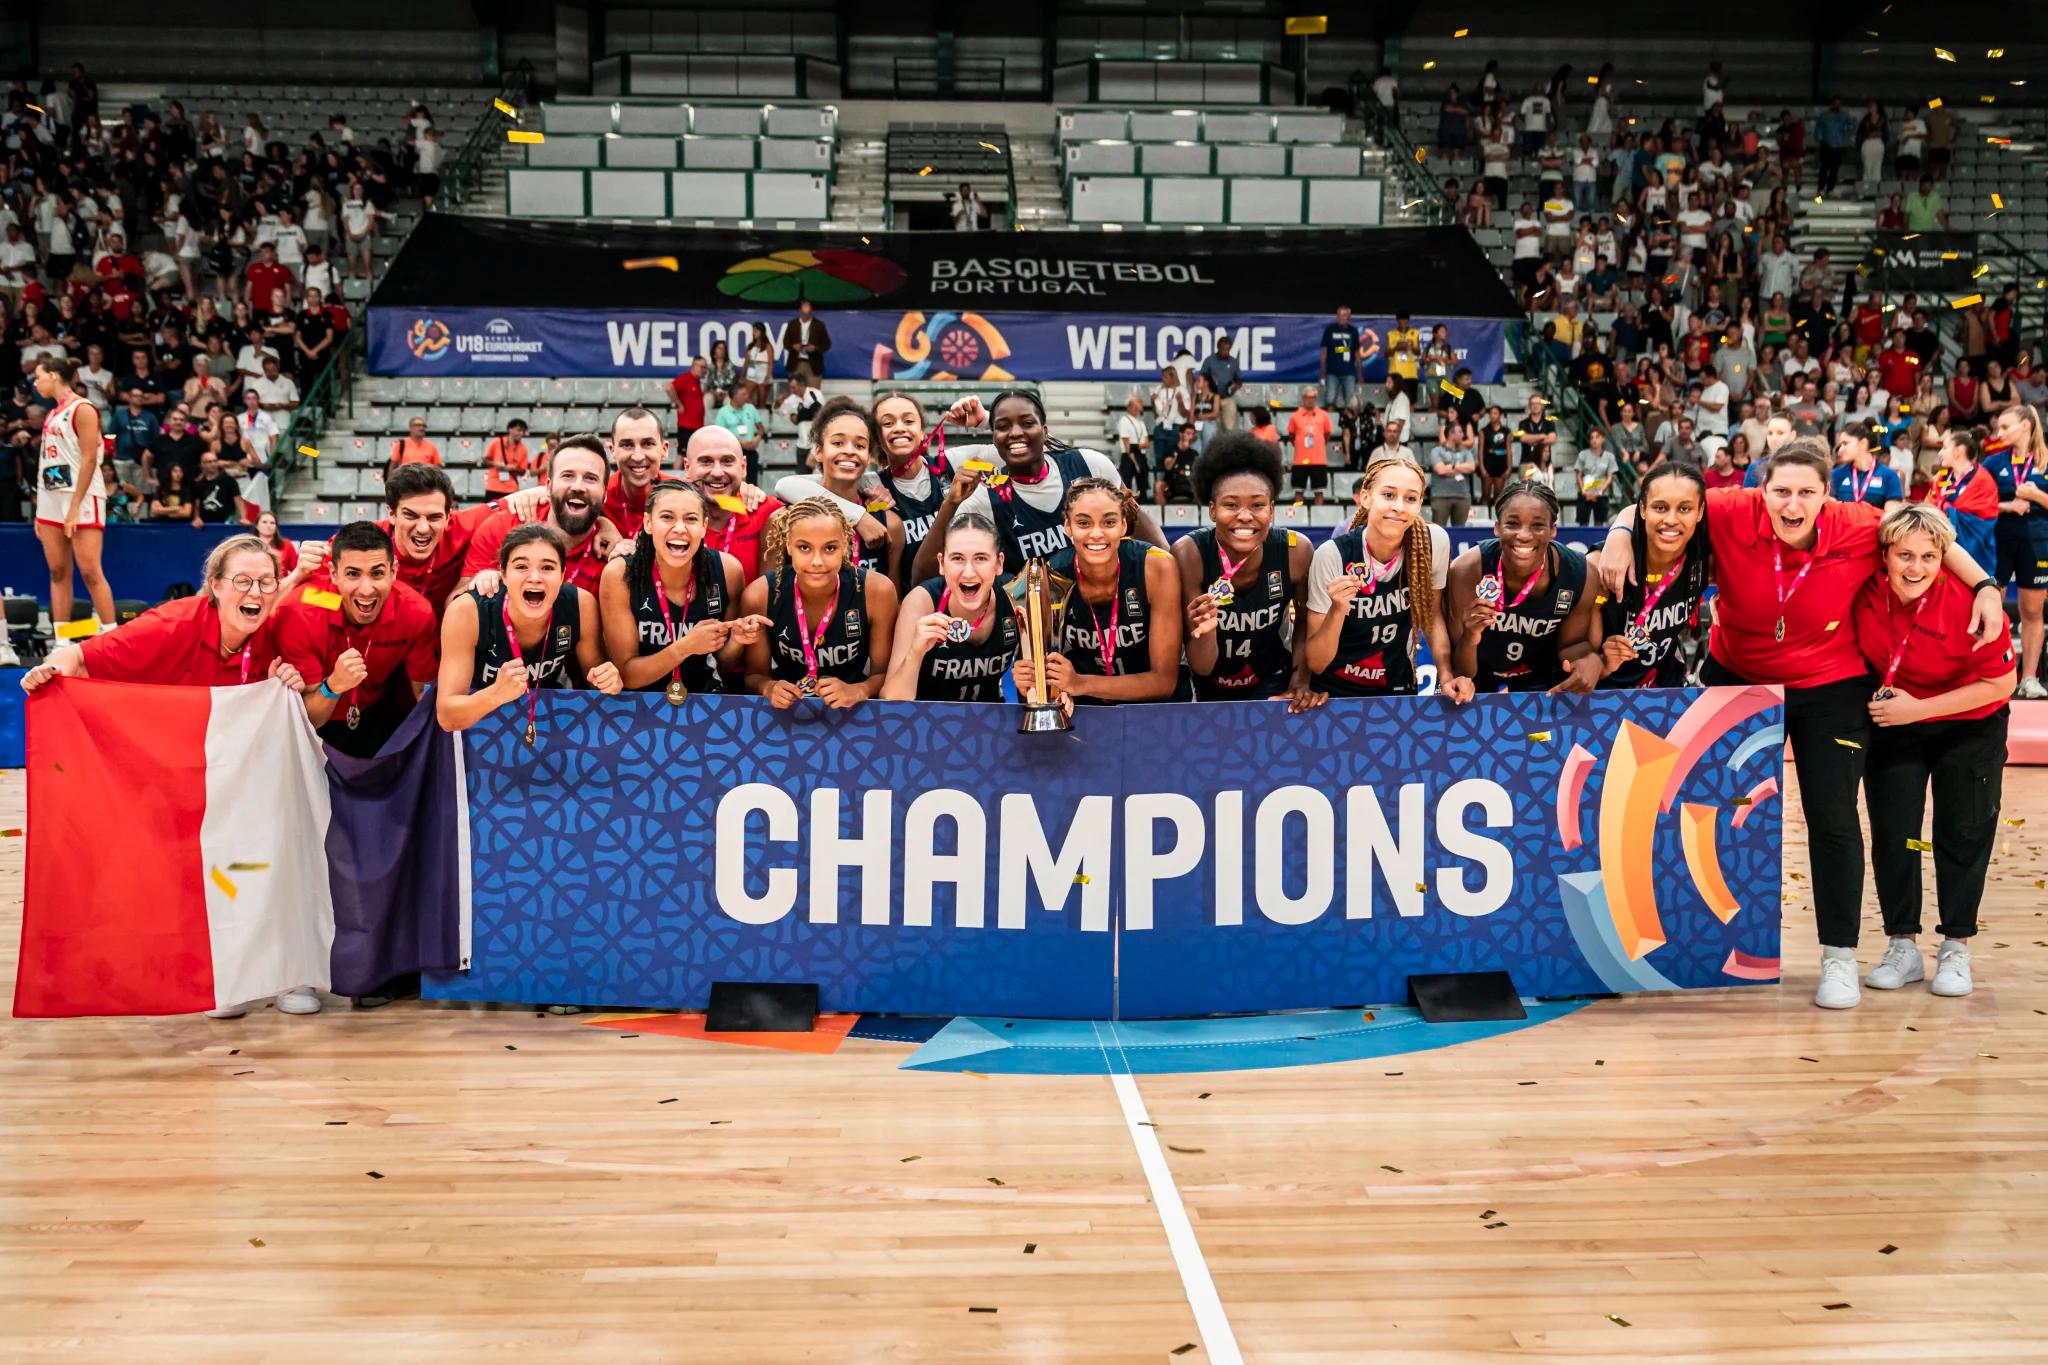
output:
M1317 377L1329 315L1147 315L1147 313L977 313L977 311L829 311L825 379L1096 379L1149 385L1184 348L1208 358L1217 340L1231 352L1247 385ZM725 342L743 356L754 323L780 336L782 315L743 309L371 309L371 370L375 375L604 377L670 379L692 356ZM1427 340L1442 321L1458 364L1473 381L1501 383L1505 342L1493 319L1415 317ZM1386 377L1389 317L1356 317L1382 348L1366 379Z

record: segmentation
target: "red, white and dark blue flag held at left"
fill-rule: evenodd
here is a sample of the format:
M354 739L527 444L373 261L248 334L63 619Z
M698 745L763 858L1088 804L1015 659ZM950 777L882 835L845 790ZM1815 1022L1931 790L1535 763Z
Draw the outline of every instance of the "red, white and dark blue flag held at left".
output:
M14 1015L180 1015L291 986L365 995L401 970L455 966L461 878L440 831L459 784L432 780L430 749L449 737L422 724L432 702L422 710L389 759L346 759L274 681L37 690ZM451 945L418 952L422 939Z

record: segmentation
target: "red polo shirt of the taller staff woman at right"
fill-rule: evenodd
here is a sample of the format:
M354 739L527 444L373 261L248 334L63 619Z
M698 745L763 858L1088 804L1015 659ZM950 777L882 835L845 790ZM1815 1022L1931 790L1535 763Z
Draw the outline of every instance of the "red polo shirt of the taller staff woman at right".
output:
M1761 489L1708 489L1706 534L1714 548L1714 632L1708 651L1749 681L1819 688L1862 677L1849 604L1878 565L1878 522L1870 503L1827 499L1812 546L1794 551L1772 534ZM1774 546L1784 571L1776 569ZM1810 565L1810 569L1808 569ZM1808 569L1800 579L1800 569ZM1798 581L1794 589L1792 583ZM1790 593L1784 608L1782 589ZM1778 616L1786 639L1776 639Z

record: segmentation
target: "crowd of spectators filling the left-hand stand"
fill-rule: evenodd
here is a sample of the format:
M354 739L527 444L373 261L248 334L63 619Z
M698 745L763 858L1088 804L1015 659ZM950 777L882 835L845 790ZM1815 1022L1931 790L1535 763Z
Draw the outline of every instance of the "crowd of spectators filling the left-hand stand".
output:
M6 92L0 520L20 516L35 473L45 413L29 377L47 354L82 362L113 442L117 518L260 508L279 432L354 325L344 280L369 276L397 199L436 188L424 106L397 139L358 139L334 113L299 147L260 111L238 131L223 117L180 100L104 108L82 65ZM223 503L217 477L240 479L248 505Z

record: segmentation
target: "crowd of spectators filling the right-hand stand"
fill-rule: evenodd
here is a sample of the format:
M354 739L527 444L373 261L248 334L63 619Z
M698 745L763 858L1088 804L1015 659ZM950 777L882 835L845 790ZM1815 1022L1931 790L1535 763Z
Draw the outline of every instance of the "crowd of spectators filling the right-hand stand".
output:
M1567 65L1516 94L1489 63L1470 98L1454 84L1438 108L1438 151L1468 176L1462 190L1456 174L1444 182L1446 211L1509 231L1513 289L1610 456L1743 471L1774 417L1823 438L1880 422L1892 467L1925 487L1950 428L2048 397L2017 284L1952 309L1794 250L1808 151L1812 190L1866 201L1872 227L1952 225L1956 127L1939 100L1855 115L1837 98L1808 135L1790 108L1731 115L1718 63L1696 119L1647 127L1616 92L1612 65L1591 84ZM1509 207L1516 176L1538 190Z

